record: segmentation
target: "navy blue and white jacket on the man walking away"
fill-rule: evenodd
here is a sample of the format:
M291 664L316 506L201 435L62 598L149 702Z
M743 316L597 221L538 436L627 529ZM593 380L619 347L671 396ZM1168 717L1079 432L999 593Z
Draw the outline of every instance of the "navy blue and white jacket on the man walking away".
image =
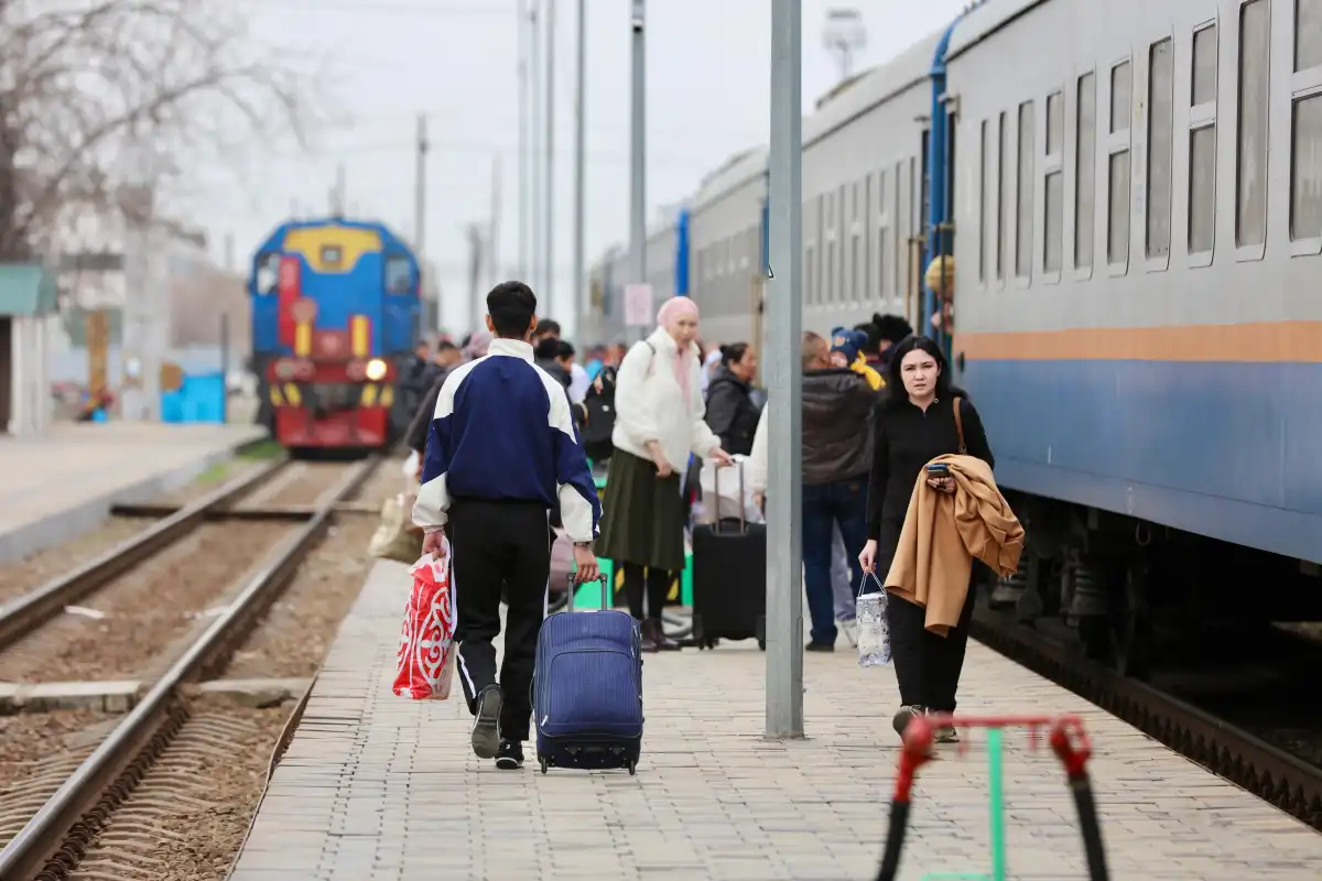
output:
M414 523L440 528L455 498L559 506L571 542L596 538L602 503L568 398L526 342L493 339L440 387Z

